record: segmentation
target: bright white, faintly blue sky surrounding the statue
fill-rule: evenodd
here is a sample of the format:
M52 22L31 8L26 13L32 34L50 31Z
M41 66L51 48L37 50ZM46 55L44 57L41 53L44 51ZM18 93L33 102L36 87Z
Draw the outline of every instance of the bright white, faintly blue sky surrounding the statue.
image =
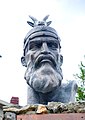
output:
M51 27L61 38L63 81L73 74L85 55L85 0L3 0L0 1L0 99L19 97L27 104L26 68L21 64L23 41L31 27L29 15L42 20L50 15ZM85 60L84 60L85 62Z

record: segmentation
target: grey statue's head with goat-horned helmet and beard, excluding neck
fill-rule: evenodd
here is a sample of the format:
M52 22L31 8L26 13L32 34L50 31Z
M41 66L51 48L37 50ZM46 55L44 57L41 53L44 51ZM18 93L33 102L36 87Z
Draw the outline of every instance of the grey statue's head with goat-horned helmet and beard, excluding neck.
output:
M24 78L27 84L37 92L47 93L61 85L63 79L60 54L60 38L56 30L46 22L48 16L38 21L30 16L34 23L25 39L21 62L26 67Z

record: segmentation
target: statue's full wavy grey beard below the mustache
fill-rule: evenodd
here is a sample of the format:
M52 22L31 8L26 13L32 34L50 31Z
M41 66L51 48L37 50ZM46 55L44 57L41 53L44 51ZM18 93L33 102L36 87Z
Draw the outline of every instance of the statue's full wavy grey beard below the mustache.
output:
M37 69L30 61L24 78L35 91L47 93L61 85L62 76L49 62L42 63Z

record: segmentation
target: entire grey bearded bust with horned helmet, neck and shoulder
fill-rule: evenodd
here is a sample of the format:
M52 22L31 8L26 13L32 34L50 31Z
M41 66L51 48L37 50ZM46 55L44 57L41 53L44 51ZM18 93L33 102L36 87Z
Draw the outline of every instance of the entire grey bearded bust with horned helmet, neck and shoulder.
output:
M74 81L62 84L63 56L60 54L60 38L56 30L46 22L30 16L33 27L24 39L24 52L21 62L27 67L24 78L28 84L28 104L47 104L48 102L74 102L77 85Z

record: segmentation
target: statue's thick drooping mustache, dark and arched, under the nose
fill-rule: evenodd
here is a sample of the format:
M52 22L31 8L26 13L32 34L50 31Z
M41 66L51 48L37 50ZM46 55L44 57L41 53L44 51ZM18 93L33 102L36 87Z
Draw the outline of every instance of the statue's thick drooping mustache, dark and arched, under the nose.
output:
M55 57L52 54L39 54L35 59L35 68L40 66L42 62L49 62L53 67L56 67Z

